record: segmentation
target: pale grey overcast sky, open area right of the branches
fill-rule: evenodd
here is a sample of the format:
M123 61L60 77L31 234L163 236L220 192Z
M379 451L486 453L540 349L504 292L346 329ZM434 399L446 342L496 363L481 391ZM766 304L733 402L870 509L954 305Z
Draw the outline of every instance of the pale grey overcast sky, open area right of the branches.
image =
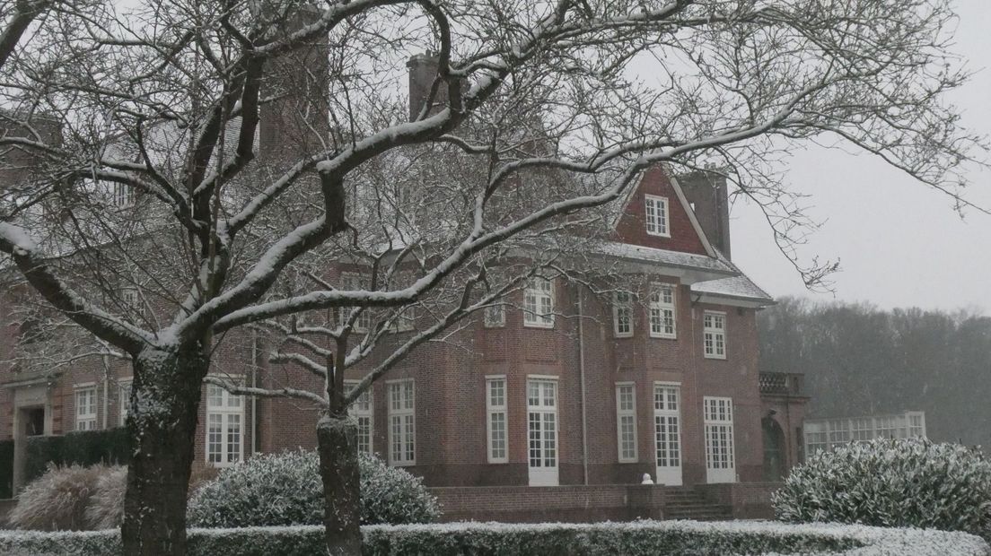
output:
M956 4L954 51L977 74L950 99L962 110L965 126L991 135L991 1ZM991 208L991 171L967 177L965 197ZM738 202L730 215L733 261L768 293L991 315L991 216L969 210L961 220L947 196L868 154L796 152L787 178L794 190L812 196L806 200L809 215L825 221L801 254L806 261L815 255L839 258L841 271L832 276L834 295L806 290L777 251L760 212Z

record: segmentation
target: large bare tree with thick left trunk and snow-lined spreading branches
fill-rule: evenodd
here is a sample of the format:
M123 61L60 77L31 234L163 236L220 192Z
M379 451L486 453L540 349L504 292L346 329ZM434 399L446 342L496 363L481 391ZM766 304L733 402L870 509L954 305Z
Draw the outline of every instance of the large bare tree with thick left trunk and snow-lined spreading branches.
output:
M774 154L799 141L856 144L966 204L958 168L983 146L943 102L966 77L947 50L948 4L0 4L0 146L11 165L0 251L55 310L133 360L125 551L185 552L192 437L217 334L346 307L357 319L470 284L491 249L607 205L651 164L732 168L786 252L801 221ZM436 70L407 114L395 91L423 49L437 51ZM372 232L349 220L362 203L349 185L397 171L411 146L427 165L460 151L483 179L444 178L448 214L463 218L441 235L372 249ZM548 180L582 187L548 190ZM416 212L409 198L391 203ZM392 228L385 235L410 229ZM333 257L327 245L356 241L391 253L396 269L419 245L431 254L414 279L382 288L318 274L306 291L280 287L300 283L290 270ZM155 311L97 294L131 282ZM337 364L326 374L318 436L353 446ZM358 551L352 516L327 525L331 553Z

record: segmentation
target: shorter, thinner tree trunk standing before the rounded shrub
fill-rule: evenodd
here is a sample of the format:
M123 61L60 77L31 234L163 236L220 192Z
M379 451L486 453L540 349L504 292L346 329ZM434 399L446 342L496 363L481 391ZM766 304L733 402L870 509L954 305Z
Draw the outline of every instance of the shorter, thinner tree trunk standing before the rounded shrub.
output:
M358 423L346 414L322 417L316 426L316 438L320 453L320 478L323 480L327 554L361 554Z

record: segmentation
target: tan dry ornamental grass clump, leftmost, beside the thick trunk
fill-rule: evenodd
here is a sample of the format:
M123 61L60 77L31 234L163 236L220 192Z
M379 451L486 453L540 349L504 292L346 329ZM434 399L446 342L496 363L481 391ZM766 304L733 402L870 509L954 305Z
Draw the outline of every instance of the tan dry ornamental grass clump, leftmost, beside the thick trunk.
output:
M86 518L90 500L99 492L100 477L117 467L49 466L49 470L18 495L8 520L22 529L79 530L92 528Z

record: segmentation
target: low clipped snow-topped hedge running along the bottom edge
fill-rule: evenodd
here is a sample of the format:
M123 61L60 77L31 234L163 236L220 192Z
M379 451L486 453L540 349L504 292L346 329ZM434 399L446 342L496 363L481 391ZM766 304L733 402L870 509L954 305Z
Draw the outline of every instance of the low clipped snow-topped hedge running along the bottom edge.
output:
M979 537L932 529L768 522L636 521L632 523L443 523L366 525L366 556L846 554L848 556L988 556ZM321 554L319 526L190 529L189 556ZM13 556L114 556L117 531L0 532L0 553Z

